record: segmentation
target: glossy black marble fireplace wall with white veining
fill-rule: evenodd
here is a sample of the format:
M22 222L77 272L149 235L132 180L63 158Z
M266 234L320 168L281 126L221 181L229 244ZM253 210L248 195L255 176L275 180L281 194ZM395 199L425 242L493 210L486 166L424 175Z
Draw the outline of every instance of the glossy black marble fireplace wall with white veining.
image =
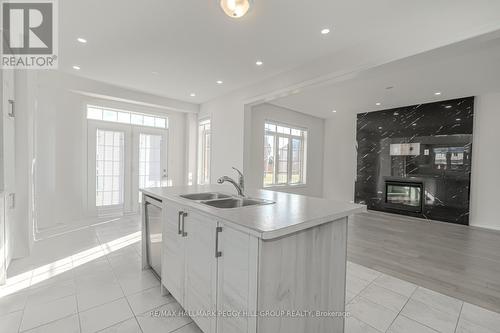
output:
M358 114L355 201L469 224L474 97Z

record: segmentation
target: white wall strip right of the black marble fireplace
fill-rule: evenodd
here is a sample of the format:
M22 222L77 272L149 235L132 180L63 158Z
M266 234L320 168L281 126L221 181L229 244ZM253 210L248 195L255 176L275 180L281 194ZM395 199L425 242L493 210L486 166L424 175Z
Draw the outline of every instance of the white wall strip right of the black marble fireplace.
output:
M470 225L500 230L500 93L476 98Z

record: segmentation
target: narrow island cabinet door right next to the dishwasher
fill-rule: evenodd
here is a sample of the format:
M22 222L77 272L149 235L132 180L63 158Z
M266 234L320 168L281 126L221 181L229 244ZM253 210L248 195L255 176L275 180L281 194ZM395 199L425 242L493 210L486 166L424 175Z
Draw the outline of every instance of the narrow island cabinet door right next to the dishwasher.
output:
M161 281L165 288L180 303L184 303L185 247L184 237L179 234L179 215L186 212L182 206L170 201L165 203L163 224L163 259Z

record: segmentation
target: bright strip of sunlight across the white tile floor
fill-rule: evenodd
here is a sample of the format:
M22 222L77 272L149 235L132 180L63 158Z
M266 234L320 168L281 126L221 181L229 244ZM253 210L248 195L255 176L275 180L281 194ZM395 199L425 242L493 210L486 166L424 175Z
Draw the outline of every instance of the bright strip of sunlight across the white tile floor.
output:
M0 298L46 281L97 258L137 243L140 240L141 232L137 231L72 256L51 262L50 264L37 267L28 272L7 278L5 285L0 286Z

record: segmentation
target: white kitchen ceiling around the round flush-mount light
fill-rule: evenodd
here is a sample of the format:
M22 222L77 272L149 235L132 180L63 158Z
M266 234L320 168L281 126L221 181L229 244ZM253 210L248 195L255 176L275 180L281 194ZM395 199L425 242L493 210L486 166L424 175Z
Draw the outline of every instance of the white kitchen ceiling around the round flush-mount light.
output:
M194 103L322 57L425 51L500 28L490 0L255 0L237 20L216 0L65 0L59 12L61 70Z

